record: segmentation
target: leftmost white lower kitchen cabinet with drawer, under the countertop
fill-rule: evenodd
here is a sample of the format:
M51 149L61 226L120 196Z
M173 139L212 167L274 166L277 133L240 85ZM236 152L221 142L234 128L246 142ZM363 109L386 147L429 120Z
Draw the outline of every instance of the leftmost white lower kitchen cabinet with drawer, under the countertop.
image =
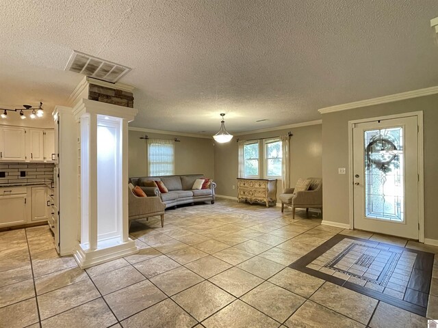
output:
M26 223L26 187L0 188L0 208L1 228Z

